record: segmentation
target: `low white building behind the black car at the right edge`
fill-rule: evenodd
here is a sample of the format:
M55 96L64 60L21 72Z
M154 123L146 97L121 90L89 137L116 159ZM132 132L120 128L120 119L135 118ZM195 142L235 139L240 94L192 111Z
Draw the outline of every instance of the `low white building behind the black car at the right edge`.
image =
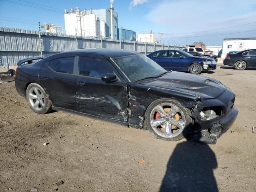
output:
M256 38L232 38L224 39L222 45L222 58L230 51L243 51L256 49Z

